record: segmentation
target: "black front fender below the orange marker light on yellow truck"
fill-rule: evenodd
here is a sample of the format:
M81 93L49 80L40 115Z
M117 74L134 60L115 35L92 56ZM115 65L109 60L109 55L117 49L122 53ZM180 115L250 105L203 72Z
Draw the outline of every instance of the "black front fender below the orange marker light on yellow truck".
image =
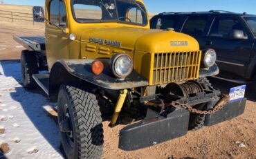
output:
M51 87L56 87L54 86L55 84L51 83L56 83L55 80L60 79L62 79L62 81L82 79L95 86L111 90L122 90L149 85L147 79L141 77L136 71L133 71L131 75L125 79L118 79L112 75L107 64L104 64L104 71L100 75L95 75L91 71L91 63L93 61L93 59L68 59L57 61L51 70L50 89ZM62 75L64 75L64 77L62 77ZM73 79L68 79L71 77L73 77Z

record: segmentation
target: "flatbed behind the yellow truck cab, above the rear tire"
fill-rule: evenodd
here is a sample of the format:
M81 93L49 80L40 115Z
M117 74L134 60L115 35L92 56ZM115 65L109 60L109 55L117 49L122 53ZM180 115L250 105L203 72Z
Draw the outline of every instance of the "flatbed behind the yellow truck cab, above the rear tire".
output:
M21 44L22 46L24 46L24 48L28 50L35 50L35 51L46 50L44 37L14 36L13 39L15 39L15 41L17 41L19 44Z

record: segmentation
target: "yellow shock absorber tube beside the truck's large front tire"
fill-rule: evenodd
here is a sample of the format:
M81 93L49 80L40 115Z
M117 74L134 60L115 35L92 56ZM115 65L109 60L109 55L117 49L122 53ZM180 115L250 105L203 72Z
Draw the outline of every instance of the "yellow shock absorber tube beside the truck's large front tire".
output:
M122 106L125 103L125 98L127 96L127 89L125 89L124 91L122 91L122 93L120 93L119 97L118 97L118 102L116 102L116 109L113 113L112 119L111 119L111 126L115 126L116 121L118 120L118 116L120 111L122 110Z

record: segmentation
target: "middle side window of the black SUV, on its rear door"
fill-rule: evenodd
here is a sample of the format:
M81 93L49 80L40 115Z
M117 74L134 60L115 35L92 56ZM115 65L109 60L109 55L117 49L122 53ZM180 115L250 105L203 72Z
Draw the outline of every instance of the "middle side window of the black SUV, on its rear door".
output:
M203 36L203 31L205 30L207 22L207 16L189 17L181 32L191 35L192 37L201 37Z

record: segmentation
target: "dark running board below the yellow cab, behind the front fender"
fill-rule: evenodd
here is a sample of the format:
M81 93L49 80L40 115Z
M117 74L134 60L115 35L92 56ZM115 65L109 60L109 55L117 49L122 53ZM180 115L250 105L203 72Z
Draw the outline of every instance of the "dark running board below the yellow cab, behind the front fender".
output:
M35 79L35 82L37 82L38 86L40 86L47 95L49 95L49 77L50 75L48 73L33 75L33 79Z

